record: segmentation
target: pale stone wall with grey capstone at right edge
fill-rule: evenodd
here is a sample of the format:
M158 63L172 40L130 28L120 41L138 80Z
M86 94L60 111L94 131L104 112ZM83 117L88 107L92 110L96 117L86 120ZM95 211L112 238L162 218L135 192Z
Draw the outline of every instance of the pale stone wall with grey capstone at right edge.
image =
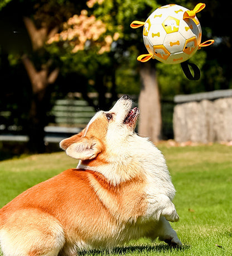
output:
M176 96L173 131L179 143L232 141L232 90Z

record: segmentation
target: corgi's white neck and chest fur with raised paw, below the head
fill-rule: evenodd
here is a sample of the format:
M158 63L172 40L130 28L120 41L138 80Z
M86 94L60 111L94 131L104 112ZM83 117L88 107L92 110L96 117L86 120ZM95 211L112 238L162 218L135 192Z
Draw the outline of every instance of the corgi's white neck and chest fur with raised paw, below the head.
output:
M108 147L107 164L89 167L80 162L78 168L103 174L113 186L139 177L144 183L143 193L147 205L143 220L158 220L161 215L170 221L178 219L172 203L175 188L161 151L146 138L136 134L129 136L127 141L119 145L122 146Z

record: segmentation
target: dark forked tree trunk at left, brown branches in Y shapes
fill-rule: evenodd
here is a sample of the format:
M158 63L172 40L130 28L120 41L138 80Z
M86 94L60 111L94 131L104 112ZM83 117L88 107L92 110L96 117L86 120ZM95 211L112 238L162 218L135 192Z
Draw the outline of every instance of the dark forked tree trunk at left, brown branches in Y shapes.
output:
M43 22L40 29L37 29L35 23L31 18L24 17L28 35L30 36L32 49L42 57L43 50L41 51L46 40L54 35L58 27L49 31L49 27L46 22ZM44 127L47 125L46 112L49 105L49 92L47 88L50 84L54 83L58 74L59 69L54 69L50 72L51 60L48 60L46 64L41 64L40 70L36 69L36 65L30 58L25 54L22 56L22 63L25 66L28 77L31 81L32 87L32 99L31 108L28 115L28 136L29 143L28 147L30 151L42 153L45 151L44 144Z

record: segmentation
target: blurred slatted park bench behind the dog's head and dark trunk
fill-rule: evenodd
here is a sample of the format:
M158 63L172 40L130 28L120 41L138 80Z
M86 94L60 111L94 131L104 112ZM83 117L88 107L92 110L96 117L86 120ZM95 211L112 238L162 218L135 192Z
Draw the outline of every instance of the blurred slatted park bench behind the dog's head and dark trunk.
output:
M88 124L94 113L95 109L83 99L57 99L52 110L47 113L52 121L45 127L45 143L59 143L77 134ZM10 115L10 111L0 111L0 116L7 118ZM14 124L0 124L0 141L28 141L28 136L22 134L22 130L21 126Z

